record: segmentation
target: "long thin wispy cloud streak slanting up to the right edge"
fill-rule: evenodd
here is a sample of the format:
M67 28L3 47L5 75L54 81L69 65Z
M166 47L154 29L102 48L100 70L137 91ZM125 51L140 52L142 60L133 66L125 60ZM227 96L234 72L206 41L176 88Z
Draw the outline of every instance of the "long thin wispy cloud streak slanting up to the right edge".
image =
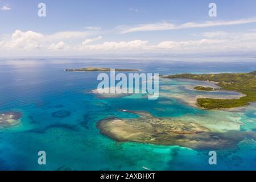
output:
M117 27L121 34L139 31L162 31L162 30L176 30L183 28L201 28L213 26L230 26L236 24L254 23L256 18L238 19L230 21L208 21L203 23L187 22L183 24L173 24L169 22L152 23L152 24L139 24L138 26L119 26Z

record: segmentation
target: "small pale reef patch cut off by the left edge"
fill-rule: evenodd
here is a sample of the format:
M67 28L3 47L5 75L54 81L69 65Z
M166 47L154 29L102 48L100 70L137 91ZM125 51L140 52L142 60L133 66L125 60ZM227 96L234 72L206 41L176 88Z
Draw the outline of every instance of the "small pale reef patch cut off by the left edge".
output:
M3 127L18 125L18 123L20 123L21 117L22 114L18 112L8 111L0 113L0 129Z

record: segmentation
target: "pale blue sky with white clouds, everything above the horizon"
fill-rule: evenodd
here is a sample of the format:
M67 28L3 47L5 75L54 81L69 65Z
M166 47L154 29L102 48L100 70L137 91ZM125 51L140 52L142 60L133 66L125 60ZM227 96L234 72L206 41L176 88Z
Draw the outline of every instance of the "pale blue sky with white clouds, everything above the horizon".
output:
M255 0L0 0L0 23L0 56L256 51Z

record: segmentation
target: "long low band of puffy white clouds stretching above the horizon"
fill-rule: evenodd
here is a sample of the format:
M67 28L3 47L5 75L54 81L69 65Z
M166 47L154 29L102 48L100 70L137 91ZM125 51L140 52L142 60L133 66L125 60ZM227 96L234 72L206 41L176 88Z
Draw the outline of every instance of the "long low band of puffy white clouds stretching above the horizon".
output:
M102 36L88 38L88 32L63 31L53 34L41 34L34 31L16 30L9 36L0 38L0 51L34 50L65 51L70 53L87 52L185 52L185 51L232 51L256 50L256 31L245 32L203 32L198 39L164 40L150 44L148 40L130 40L119 42L102 42ZM194 37L195 38L195 37Z

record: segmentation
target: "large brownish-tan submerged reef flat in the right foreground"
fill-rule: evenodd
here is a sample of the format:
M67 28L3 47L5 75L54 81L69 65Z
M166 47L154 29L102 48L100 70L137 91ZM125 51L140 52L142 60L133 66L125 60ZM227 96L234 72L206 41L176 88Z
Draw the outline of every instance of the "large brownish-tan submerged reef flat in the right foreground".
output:
M252 131L214 131L207 125L184 118L156 118L143 111L129 111L139 118L108 118L97 123L101 133L118 142L141 142L195 149L236 147L246 138L256 139Z

